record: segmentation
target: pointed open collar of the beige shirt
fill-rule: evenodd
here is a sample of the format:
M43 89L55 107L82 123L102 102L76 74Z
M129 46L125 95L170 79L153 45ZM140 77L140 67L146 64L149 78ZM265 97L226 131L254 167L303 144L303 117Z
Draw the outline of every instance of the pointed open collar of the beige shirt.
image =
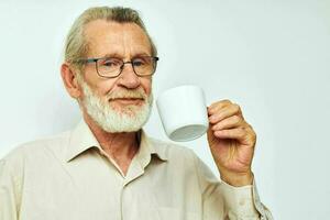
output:
M139 131L138 140L140 142L140 148L138 152L138 156L140 158L143 160L150 157L151 155L156 155L162 161L168 160L165 147L158 146L158 144L155 143L154 140L148 138L143 130ZM82 119L70 133L66 162L74 160L82 152L92 147L102 151L99 142L90 131L88 124Z

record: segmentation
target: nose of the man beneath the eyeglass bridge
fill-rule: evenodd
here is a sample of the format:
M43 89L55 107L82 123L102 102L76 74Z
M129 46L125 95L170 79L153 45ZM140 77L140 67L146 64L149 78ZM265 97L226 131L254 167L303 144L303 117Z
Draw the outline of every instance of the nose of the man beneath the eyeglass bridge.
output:
M124 63L118 81L128 89L135 89L140 86L141 81L139 76L134 73L132 63Z

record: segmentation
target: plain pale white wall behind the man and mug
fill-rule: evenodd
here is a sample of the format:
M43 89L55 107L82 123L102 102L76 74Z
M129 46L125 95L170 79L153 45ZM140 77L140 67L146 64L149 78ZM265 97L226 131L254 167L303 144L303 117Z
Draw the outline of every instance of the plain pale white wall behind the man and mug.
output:
M209 105L241 105L258 135L260 196L276 219L329 218L329 0L0 0L0 157L77 123L59 76L64 38L79 13L105 4L145 20L161 57L155 97L194 84ZM145 129L167 140L156 108ZM185 145L217 172L206 136Z

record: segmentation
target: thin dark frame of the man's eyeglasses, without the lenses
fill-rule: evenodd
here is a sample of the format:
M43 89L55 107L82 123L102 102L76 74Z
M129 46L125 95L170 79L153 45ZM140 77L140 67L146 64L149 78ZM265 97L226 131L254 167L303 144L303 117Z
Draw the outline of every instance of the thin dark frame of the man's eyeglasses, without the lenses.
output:
M138 73L135 72L135 68L134 68L134 65L133 65L133 61L132 61L132 59L129 61L129 62L122 61L122 65L120 66L120 72L119 72L116 76L103 76L103 75L101 75L101 74L99 73L99 69L98 69L98 61L100 61L100 59L109 59L109 58L111 58L111 57L80 58L80 59L78 59L77 62L78 62L78 63L84 63L84 64L95 63L95 68L96 68L96 70L97 70L97 74L98 74L100 77L103 77L103 78L116 78L116 77L120 76L121 73L122 73L122 70L123 70L123 68L124 68L124 65L125 65L125 64L131 64L131 65L132 65L133 72L134 72L134 74L135 74L136 76L144 77L144 76L152 76L152 75L154 75L154 73L156 72L157 62L160 61L160 57L157 57L157 56L142 56L142 57L148 57L148 58L152 58L153 62L154 62L154 63L153 63L153 64L154 64L154 69L153 69L153 72L152 72L150 75L140 75L140 74L138 74Z

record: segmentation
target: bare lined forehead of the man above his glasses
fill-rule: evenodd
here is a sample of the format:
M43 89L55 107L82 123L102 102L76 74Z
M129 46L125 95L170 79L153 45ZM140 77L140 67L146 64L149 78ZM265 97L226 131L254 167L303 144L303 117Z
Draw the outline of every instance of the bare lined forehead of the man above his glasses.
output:
M91 21L85 28L85 37L90 56L151 54L148 37L135 23Z

